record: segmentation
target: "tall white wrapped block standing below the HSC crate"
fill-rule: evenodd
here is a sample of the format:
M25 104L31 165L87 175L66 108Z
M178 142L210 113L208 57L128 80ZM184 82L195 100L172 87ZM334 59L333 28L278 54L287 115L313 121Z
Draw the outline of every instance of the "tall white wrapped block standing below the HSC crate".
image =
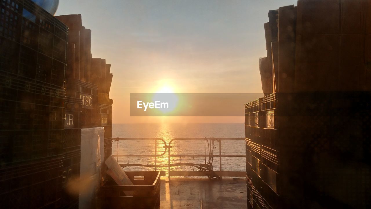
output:
M81 167L79 209L96 206L101 184L101 163L104 162L104 128L81 129Z

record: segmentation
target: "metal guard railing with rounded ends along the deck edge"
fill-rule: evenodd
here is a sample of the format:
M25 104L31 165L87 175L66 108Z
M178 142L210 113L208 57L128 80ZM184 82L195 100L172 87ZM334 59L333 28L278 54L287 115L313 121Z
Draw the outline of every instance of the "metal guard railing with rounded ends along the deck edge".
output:
M127 140L154 140L154 154L148 155L148 154L119 154L119 141L127 141ZM160 140L164 143L164 151L161 154L157 154L157 140ZM219 154L171 154L171 143L174 141L193 141L193 140L203 140L203 141L217 141L219 142ZM139 167L154 167L155 170L157 168L163 168L168 167L168 178L170 180L171 176L207 176L207 172L213 172L217 176L220 177L245 177L246 171L223 171L222 170L222 158L223 157L243 157L246 158L246 155L223 155L221 153L221 142L227 140L245 140L245 138L175 138L171 139L169 142L169 145L166 144L164 139L161 138L112 138L112 141L117 142L116 146L116 154L112 155L116 157L118 160L118 157L154 157L154 164L121 164L123 166L139 166ZM168 164L166 165L158 165L157 164L157 157L162 157L166 154L166 151L168 149ZM177 166L175 164L171 164L171 157L219 157L219 171L171 171L171 167Z

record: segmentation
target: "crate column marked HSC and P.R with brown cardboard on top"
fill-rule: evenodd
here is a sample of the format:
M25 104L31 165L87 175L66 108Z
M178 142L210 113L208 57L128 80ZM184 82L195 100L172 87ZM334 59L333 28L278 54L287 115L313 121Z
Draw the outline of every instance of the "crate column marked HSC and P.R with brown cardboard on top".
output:
M63 138L62 208L78 208L81 168L81 128L94 127L97 111L98 86L90 83L85 65L89 63L90 30L82 26L81 15L57 16L69 27L66 69L66 102ZM87 71L86 71L87 72Z

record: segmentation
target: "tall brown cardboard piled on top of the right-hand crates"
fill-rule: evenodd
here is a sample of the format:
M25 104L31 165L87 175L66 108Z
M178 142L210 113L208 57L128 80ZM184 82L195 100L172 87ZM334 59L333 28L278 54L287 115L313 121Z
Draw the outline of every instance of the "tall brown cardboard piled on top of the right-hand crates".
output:
M267 57L259 60L264 96L370 91L370 7L368 0L299 0L270 10Z

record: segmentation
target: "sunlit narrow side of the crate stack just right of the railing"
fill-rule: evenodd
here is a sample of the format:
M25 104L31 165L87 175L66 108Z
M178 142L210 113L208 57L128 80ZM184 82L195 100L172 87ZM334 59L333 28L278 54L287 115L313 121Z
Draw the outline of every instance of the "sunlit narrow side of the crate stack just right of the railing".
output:
M249 208L279 208L276 94L245 105L246 186ZM246 125L246 123L250 125Z

